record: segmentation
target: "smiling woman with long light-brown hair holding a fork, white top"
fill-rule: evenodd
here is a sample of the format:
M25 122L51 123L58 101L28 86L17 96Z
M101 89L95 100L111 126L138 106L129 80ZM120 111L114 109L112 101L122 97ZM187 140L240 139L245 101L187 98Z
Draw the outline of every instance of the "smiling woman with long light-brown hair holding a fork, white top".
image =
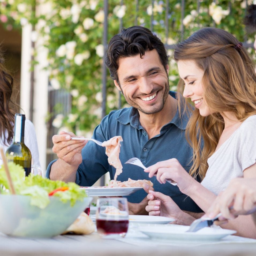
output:
M189 175L178 160L169 159L145 171L149 177L157 172L160 183L176 181L180 191L206 212L232 178L256 178L256 74L242 43L217 28L200 29L179 43L174 59L180 75L178 91L186 99L184 104L194 104L187 125L193 166ZM179 102L183 104L182 99ZM148 199L150 215L168 215L176 223L191 223L171 198L152 191ZM256 238L252 224L251 216L239 216L223 227Z

